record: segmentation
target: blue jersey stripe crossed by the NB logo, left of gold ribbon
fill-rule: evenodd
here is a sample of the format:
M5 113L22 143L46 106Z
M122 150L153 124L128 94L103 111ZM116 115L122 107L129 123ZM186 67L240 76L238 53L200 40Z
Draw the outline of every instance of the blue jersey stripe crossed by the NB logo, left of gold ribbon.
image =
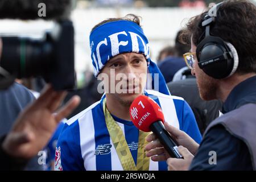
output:
M93 125L94 125L94 139L95 150L99 145L110 144L110 135L108 127L106 126L104 111L102 106L103 100L96 107L92 109ZM114 146L112 146L114 147ZM96 170L97 171L111 171L111 152L105 155L96 155Z

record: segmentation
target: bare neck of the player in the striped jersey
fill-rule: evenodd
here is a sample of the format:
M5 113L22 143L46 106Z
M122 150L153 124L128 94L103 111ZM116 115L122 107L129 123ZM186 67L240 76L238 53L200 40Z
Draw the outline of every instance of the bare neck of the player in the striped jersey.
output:
M106 107L109 112L120 119L131 121L129 109L130 106L121 104L118 100L114 99L113 96L106 94Z

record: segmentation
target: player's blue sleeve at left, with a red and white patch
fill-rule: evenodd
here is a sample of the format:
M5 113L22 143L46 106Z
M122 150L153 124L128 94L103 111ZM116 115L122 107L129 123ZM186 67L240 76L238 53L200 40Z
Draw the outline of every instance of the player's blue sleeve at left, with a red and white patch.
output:
M55 151L55 170L83 171L84 160L81 155L79 122L65 124Z

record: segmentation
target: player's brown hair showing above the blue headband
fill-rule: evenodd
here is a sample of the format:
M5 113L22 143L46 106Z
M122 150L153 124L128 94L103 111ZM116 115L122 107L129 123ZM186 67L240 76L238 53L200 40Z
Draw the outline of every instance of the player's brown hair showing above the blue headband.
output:
M134 14L127 14L127 15L121 17L121 18L108 18L108 19L106 19L106 20L103 20L102 22L96 24L96 26L94 26L94 27L92 28L92 31L93 31L95 28L101 26L102 24L109 23L109 22L115 22L115 21L119 21L119 20L128 20L128 21L137 23L138 26L141 27L141 16L137 16L137 15L134 15ZM92 31L91 31L91 32L92 32Z

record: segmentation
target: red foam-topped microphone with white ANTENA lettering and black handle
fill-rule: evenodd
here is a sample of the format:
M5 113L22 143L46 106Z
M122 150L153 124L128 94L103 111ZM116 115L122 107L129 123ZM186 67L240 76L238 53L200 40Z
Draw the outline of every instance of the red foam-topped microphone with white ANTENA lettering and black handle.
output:
M183 156L177 150L177 144L164 128L164 115L159 105L147 96L135 98L130 106L130 117L133 124L144 132L152 131L163 144L172 158L181 159Z

